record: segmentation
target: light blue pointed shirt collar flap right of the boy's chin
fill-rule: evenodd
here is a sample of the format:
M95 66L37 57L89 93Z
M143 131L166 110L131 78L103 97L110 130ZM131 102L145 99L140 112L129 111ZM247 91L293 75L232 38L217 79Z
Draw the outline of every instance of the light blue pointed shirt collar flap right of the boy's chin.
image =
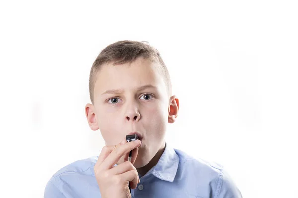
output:
M168 143L165 143L165 149L159 161L144 176L151 173L161 180L173 182L177 173L178 164L179 156Z

